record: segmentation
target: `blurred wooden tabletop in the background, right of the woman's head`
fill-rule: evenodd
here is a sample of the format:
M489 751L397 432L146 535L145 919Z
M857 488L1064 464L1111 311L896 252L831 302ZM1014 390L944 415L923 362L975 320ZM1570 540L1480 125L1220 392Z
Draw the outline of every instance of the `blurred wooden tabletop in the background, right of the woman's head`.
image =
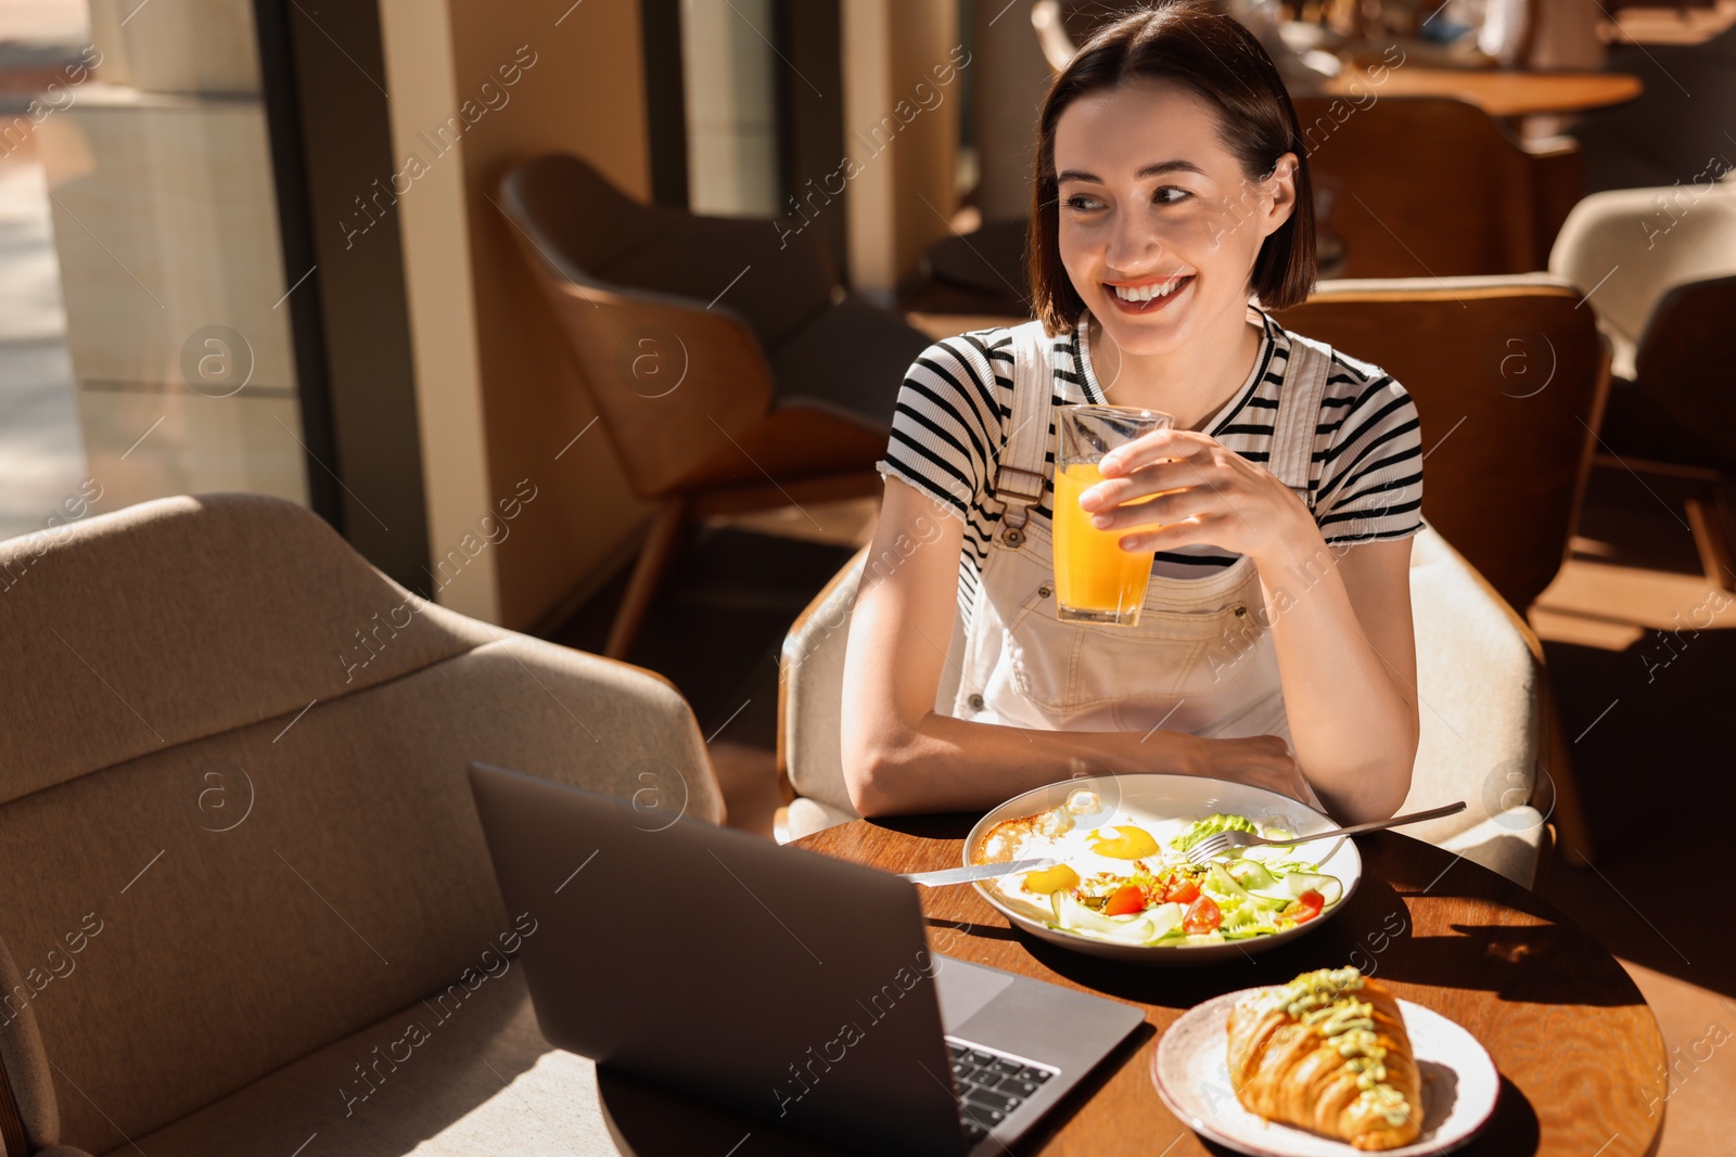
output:
M1356 66L1325 82L1332 97L1453 97L1479 106L1489 116L1583 113L1632 101L1642 90L1627 73L1519 73L1399 64L1371 75Z

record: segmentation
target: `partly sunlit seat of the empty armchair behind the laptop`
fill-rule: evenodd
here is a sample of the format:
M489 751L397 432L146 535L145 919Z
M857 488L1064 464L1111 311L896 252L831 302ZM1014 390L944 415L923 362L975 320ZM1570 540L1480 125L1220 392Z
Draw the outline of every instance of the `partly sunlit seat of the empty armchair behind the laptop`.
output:
M543 1041L517 964L431 992L111 1154L615 1157L595 1067ZM358 1067L361 1072L358 1072ZM354 1098L354 1100L352 1100Z

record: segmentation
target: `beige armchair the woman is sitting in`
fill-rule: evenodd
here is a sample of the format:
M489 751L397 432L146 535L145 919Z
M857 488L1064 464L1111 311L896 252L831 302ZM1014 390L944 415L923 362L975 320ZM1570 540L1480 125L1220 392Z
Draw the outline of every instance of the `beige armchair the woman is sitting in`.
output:
M797 793L788 840L856 819L844 788L838 713L866 555L809 604L783 644L778 755ZM1542 644L1432 527L1415 539L1410 579L1422 739L1403 810L1455 800L1469 807L1406 833L1531 886L1549 841L1545 815L1529 803L1540 794ZM941 697L950 699L944 689ZM1062 777L1057 768L1055 779Z

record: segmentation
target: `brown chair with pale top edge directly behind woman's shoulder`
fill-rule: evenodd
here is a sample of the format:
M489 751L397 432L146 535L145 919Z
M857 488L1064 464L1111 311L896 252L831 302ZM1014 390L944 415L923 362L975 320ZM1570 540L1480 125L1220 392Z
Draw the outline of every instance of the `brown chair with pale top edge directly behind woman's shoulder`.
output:
M1417 401L1424 517L1521 616L1568 559L1609 354L1581 297L1549 274L1325 281L1285 328L1391 373ZM1578 859L1592 843L1549 683L1554 807Z

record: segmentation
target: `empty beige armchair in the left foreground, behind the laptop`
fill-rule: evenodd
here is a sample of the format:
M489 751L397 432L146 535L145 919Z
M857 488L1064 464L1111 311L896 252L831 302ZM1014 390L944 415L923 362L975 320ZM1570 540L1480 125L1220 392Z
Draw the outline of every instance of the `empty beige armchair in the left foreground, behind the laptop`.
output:
M668 683L422 602L271 498L16 538L0 574L7 1154L616 1152L465 767L719 820Z

